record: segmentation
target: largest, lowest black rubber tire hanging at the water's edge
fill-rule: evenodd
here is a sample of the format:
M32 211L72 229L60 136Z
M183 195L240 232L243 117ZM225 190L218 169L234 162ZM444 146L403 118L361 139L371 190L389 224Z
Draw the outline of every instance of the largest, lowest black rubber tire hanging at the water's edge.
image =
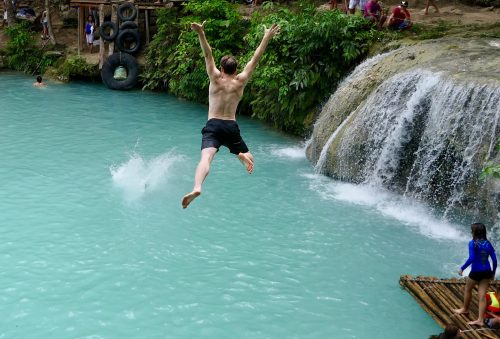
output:
M127 79L116 80L114 78L115 69L118 66L123 66L127 69ZM139 64L137 60L127 53L114 53L104 64L101 69L102 82L110 89L126 91L132 89L137 84L139 76Z

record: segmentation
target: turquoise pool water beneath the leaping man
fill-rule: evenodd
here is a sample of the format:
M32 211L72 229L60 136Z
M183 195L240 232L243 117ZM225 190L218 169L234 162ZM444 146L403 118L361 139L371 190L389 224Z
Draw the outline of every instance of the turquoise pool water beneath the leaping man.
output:
M399 287L448 277L465 226L314 173L246 118L193 185L206 107L0 74L0 338L426 338Z

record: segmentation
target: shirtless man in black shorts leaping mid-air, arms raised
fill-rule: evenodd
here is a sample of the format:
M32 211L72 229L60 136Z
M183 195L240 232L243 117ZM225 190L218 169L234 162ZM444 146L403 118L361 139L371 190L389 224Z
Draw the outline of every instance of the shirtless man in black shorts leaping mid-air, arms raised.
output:
M215 66L212 49L203 30L204 25L205 22L201 25L192 23L191 29L198 34L210 79L208 121L201 131L201 160L196 167L193 191L182 198L182 208L188 207L201 194L201 185L208 175L210 164L220 146L229 148L229 151L236 154L238 159L245 165L248 173L252 173L253 156L240 136L240 129L236 123L236 108L243 96L243 89L264 54L267 44L279 32L279 26L276 24L267 29L264 27L264 37L255 50L252 59L241 73L236 74L238 64L232 56L226 55L222 57L220 71Z

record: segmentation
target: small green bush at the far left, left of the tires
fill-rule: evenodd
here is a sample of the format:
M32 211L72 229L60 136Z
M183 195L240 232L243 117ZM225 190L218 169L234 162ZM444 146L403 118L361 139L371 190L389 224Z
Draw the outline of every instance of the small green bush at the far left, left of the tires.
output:
M34 33L30 32L27 22L7 27L5 33L9 41L5 46L5 56L9 68L25 73L43 72L52 60L44 56L36 46Z

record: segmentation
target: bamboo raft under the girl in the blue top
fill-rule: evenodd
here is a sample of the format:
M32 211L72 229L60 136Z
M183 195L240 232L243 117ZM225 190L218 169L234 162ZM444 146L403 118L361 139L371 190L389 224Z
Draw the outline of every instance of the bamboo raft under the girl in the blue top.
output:
M472 293L469 314L454 314L463 304L465 279L439 279L403 275L399 284L429 313L441 327L452 323L462 330L463 338L500 338L500 330L470 326L467 322L477 319L477 289ZM500 280L490 283L489 291L500 291Z

